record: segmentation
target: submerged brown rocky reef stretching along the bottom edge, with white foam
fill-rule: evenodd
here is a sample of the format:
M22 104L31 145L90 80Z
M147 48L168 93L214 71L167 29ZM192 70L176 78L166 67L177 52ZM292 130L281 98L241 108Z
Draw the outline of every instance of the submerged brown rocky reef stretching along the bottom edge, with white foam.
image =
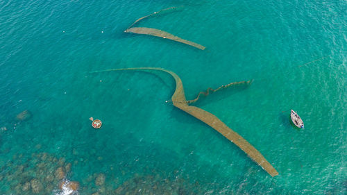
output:
M72 167L64 157L49 153L13 155L0 166L0 185L5 186L0 194L203 194L197 182L189 183L172 173L152 170L129 177L130 173L121 171L124 178L92 173L73 181L69 180L73 178Z

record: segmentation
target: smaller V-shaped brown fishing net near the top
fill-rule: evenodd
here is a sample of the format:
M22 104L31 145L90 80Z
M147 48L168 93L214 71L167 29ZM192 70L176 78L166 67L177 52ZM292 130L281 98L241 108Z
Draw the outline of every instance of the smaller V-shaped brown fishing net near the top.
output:
M137 19L133 24L131 24L128 28L126 28L126 31L124 31L125 33L135 33L135 34L143 34L143 35L152 35L155 37L162 37L164 39L169 39L169 40L174 40L176 42L181 42L184 44L188 44L190 46L194 46L198 49L204 50L205 46L202 46L201 44L197 44L195 42L191 42L188 40L184 40L180 37L177 37L175 35L172 35L170 33L167 33L165 31L161 31L159 29L155 29L155 28L146 28L146 27L133 27L137 22L140 22L142 19L145 19L147 17L151 17L153 15L158 15L161 12L167 11L167 10L173 10L179 7L172 7L172 8L166 8L164 10L160 10L159 12L153 12L150 15L146 15L144 17L140 17L139 19Z

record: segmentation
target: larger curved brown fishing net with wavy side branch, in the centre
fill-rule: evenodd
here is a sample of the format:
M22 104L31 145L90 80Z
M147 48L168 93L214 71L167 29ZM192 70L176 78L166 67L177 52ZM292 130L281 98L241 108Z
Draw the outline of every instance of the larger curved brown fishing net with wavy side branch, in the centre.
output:
M251 159L253 159L257 164L259 164L265 171L267 171L271 176L277 176L278 172L275 168L272 167L272 165L266 161L264 156L257 151L251 144L249 144L246 139L244 139L241 135L237 134L235 131L233 131L231 128L228 128L226 124L224 124L220 119L218 119L216 116L212 115L210 112L207 112L205 110L202 110L201 108L198 108L196 106L188 105L188 103L192 103L198 100L201 93L198 94L198 97L192 101L187 101L185 98L185 91L183 89L183 83L182 80L180 80L180 77L178 77L177 74L175 74L173 71L169 71L167 69L162 68L156 68L156 67L139 67L139 68L128 68L128 69L108 69L103 71L121 71L121 70L141 70L141 71L151 71L151 70L158 70L158 71L164 71L168 74L170 74L172 77L174 77L176 81L176 90L174 94L171 97L172 103L174 106L179 108L180 110L183 110L187 112L189 115L192 115L193 117L196 117L196 119L199 119L203 121L205 124L208 124L208 126L214 128L214 130L217 130L219 133L221 133L224 137L229 139L231 142L239 146L242 151L244 151ZM103 72L103 71L94 71L96 72ZM231 85L236 84L246 84L251 83L251 81L242 81L237 83L230 83L228 85L222 85L221 87L217 88L217 90L221 90L226 87L230 87ZM216 92L217 90L207 90L205 93L208 94L209 91Z

